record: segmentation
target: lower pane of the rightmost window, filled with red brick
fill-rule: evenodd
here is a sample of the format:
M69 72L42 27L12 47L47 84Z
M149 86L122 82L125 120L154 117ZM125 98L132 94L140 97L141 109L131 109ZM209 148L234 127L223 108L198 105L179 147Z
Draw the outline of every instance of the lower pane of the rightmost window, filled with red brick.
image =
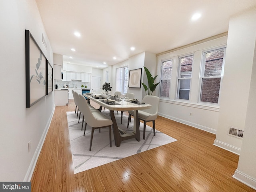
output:
M202 79L201 98L202 102L218 103L220 92L220 78Z

